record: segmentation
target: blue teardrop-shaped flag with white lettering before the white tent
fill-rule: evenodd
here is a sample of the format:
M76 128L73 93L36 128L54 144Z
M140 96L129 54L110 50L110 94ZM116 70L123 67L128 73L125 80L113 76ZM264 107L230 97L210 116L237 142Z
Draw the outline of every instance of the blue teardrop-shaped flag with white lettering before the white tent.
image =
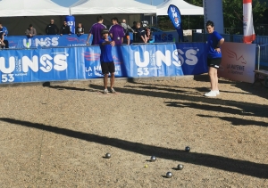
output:
M168 8L168 15L170 19L172 20L172 24L174 28L177 30L180 40L183 41L183 30L182 30L182 22L180 17L180 10L177 6L170 4Z

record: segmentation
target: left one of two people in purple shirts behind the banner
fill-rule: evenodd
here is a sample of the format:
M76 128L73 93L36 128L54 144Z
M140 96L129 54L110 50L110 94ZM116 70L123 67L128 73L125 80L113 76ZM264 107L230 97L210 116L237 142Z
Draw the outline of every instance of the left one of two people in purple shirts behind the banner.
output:
M91 29L89 30L87 45L89 45L88 41L92 35L93 35L93 40L92 40L91 45L99 45L99 41L102 38L102 34L101 34L102 30L106 29L106 26L103 24L104 19L102 16L97 16L96 20L97 22L94 23Z

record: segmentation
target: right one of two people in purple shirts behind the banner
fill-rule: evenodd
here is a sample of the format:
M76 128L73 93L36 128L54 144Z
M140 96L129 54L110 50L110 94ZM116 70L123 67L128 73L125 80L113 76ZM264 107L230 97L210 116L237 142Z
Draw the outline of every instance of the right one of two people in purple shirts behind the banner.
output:
M123 42L123 37L125 36L124 29L118 24L118 19L112 19L113 26L109 29L110 36L115 42L115 45L121 45Z

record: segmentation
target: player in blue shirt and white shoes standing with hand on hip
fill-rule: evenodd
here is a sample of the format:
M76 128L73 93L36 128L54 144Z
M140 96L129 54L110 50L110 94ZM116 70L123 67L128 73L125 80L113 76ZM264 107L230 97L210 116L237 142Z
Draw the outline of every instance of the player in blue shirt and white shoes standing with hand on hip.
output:
M224 42L224 38L214 30L214 22L208 20L205 24L208 32L207 38L207 66L208 75L210 78L211 91L206 93L205 96L217 96L220 94L218 86L218 72L220 64L222 62L221 45Z

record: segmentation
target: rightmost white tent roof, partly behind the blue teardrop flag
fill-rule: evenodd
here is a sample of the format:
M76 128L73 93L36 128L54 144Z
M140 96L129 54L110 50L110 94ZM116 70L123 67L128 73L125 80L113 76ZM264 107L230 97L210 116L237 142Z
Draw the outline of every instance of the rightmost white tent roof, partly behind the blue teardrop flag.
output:
M177 6L181 15L204 15L203 7L188 4L183 0L165 0L162 4L156 6L156 15L168 15L167 10L170 4Z

